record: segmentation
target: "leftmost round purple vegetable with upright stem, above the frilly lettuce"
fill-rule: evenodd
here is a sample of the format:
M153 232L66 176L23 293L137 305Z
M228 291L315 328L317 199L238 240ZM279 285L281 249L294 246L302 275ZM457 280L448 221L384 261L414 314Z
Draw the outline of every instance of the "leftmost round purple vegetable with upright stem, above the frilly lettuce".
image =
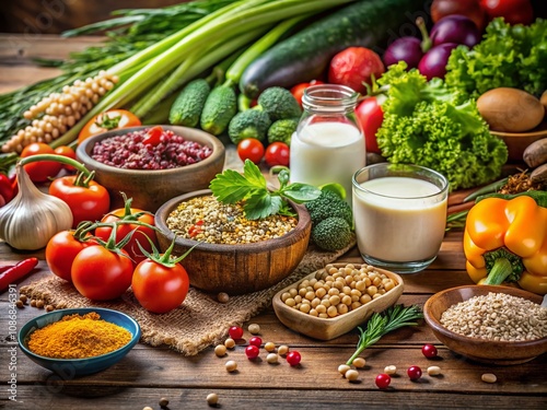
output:
M418 67L426 51L431 48L431 39L423 19L418 17L416 25L421 32L422 39L411 36L397 38L385 50L383 58L385 67L395 65L398 61L405 61L408 69Z

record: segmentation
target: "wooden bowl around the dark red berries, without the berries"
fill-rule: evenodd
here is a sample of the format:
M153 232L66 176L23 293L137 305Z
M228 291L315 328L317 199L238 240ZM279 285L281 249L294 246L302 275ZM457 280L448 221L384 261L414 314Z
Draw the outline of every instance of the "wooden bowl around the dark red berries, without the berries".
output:
M171 169L123 169L105 165L93 160L90 154L93 145L114 136L130 131L138 131L146 127L131 127L104 132L84 140L77 149L78 160L90 171L95 171L95 180L103 185L110 195L110 208L123 208L124 200L120 192L132 198L132 207L155 212L165 201L179 195L209 187L214 176L222 172L224 166L225 149L220 140L205 131L175 126L162 126L174 133L190 141L197 141L212 149L211 155L203 161L191 165Z

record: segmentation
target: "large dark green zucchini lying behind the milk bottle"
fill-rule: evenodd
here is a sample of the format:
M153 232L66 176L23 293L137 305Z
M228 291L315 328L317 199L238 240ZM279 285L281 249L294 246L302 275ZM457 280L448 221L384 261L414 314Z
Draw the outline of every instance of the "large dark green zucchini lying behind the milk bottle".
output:
M382 52L417 14L427 17L423 0L361 0L310 24L254 60L240 80L249 98L271 86L291 86L321 79L330 59L350 46ZM380 47L383 49L381 50Z

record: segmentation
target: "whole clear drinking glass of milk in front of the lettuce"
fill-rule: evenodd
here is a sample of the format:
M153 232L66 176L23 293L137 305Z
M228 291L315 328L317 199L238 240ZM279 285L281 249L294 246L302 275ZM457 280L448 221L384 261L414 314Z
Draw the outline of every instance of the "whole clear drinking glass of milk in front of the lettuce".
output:
M357 245L363 259L397 273L426 269L446 227L449 181L435 171L381 163L352 178Z

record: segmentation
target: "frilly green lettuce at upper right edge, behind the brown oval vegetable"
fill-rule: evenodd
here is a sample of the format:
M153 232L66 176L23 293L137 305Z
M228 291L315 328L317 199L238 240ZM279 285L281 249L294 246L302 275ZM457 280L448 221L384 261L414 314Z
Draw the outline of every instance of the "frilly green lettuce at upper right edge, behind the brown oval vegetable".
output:
M536 19L529 26L492 20L473 49L452 51L444 80L470 97L500 86L539 96L547 89L547 20Z

